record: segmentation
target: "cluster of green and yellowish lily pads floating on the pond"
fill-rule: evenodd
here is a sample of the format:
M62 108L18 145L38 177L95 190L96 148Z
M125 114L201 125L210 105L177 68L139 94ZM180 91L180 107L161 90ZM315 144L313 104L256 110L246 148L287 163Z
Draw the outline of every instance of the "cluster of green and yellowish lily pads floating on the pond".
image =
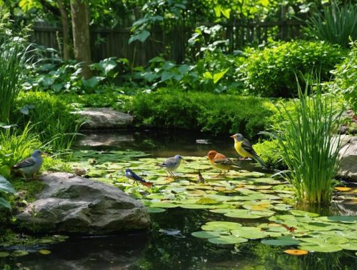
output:
M87 176L110 181L148 207L150 213L166 209L207 209L232 221L210 221L192 236L214 244L240 244L250 239L276 246L297 246L289 254L308 251L357 251L357 216L319 216L293 209L292 186L256 171L229 171L216 178L203 157L185 156L176 179L167 179L157 164L164 159L150 158L141 151L78 151L74 169L84 169ZM134 184L124 176L130 168L151 188ZM205 183L197 181L201 171ZM356 189L346 191L344 199L356 203ZM349 194L349 195L348 195ZM243 226L246 224L250 226ZM301 250L299 252L299 250Z

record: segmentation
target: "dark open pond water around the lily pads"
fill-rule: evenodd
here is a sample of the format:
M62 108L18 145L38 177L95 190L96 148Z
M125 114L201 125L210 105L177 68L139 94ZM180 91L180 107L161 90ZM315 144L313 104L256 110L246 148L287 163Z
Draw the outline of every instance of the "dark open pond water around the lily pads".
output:
M229 136L227 138L215 138L205 134L184 133L182 131L155 132L148 130L129 131L125 134L89 134L79 141L76 147L88 150L125 151L130 149L144 151L150 154L149 158L158 158L158 160L181 154L182 156L190 156L191 159L197 157L198 161L203 162L199 157L205 156L211 149L220 151L229 157L237 157L233 149L233 140ZM134 162L146 160L145 157L143 159L134 157L131 159ZM146 162L151 161L147 159ZM208 161L206 162L208 164ZM188 167L183 167L182 170L188 171ZM241 179L245 179L244 177L250 180L253 177L259 179L259 172L266 175L271 173L271 171L261 170L249 161L242 162L241 167L242 170L256 172L255 175L246 173L246 176L242 176ZM178 171L180 170L178 169ZM150 171L146 171L146 173L149 174L148 177L151 179ZM211 174L206 171L205 173L204 175L210 179ZM190 173L187 174L191 175ZM164 176L164 173L161 172L160 175ZM121 179L122 176L118 177L119 180L116 184L121 189L125 188L131 195L136 194L136 189L144 189L142 186L126 186L124 182L126 180ZM266 176L261 179L266 179L264 177ZM154 181L156 180L154 179ZM158 180L158 183L159 181L161 180ZM233 180L228 181L232 182ZM183 183L184 186L191 185L191 183L186 182ZM169 184L174 186L175 182ZM217 181L217 190L223 190L220 184L221 182ZM238 189L243 192L246 191L244 188L247 186L251 186L251 182L247 182L243 189L240 187ZM178 186L177 188L181 189L181 187ZM251 189L253 189L252 186ZM269 193L266 192L266 195L269 195ZM288 199L288 191L286 191L286 195L285 197ZM234 196L234 194L228 194L228 196ZM339 197L339 201L333 204L331 209L323 209L322 212L321 209L318 209L321 215L356 216L356 192L354 195L337 194L336 196ZM149 204L149 200L143 199L143 201L145 204ZM277 199L276 202L278 203ZM208 210L184 209L181 207L166 208L161 213L151 214L153 227L149 232L138 231L132 234L101 237L69 237L66 241L58 244L12 246L9 249L26 249L29 251L29 255L0 258L0 269L357 269L356 246L331 253L310 252L304 256L291 256L283 252L291 246L261 244L261 239L250 239L236 245L223 245L192 236L191 233L202 231L201 226L208 221L237 221L236 218L224 216L221 212ZM310 211L312 210L310 209ZM268 213L268 210L266 213ZM265 226L264 224L272 222L268 220L271 219L268 217L269 214L266 215L260 216L259 219L238 219L238 222L241 224L240 226L251 227L261 226L262 224ZM299 216L299 213L297 215ZM301 220L310 218L315 219L308 216L300 217ZM319 224L321 224L321 220L318 221ZM289 221L286 220L285 222L288 224ZM308 224L309 226L318 225L317 221ZM351 226L352 229L349 231L353 231L353 234L346 236L346 239L350 237L350 239L353 239L351 241L357 242L356 222L346 222L346 224L339 225ZM323 230L321 228L321 231ZM345 238L341 236L341 239ZM341 243L346 244L346 241ZM39 254L39 249L49 249L51 254Z

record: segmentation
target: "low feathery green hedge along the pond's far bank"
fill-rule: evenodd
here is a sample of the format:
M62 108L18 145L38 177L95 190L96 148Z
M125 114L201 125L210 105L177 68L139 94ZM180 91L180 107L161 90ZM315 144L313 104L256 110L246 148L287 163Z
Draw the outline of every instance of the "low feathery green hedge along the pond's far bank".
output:
M264 101L252 96L160 89L134 96L126 109L141 125L199 129L211 134L239 131L251 137L265 129L271 114Z

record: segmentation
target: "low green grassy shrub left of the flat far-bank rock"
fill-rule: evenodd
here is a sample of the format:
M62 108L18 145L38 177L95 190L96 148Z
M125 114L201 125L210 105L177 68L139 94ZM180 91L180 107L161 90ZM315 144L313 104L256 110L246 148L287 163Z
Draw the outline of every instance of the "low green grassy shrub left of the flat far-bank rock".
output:
M31 121L32 131L43 144L56 150L69 149L80 126L80 117L71 105L44 92L21 93L16 100L14 122L21 126ZM21 116L22 114L22 116Z

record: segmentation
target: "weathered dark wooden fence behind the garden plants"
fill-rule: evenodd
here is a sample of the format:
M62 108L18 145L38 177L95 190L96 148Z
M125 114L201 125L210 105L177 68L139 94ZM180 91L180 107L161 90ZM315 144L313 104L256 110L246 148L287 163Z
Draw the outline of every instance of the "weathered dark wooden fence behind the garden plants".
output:
M257 24L228 24L223 26L222 39L228 39L229 49L242 49L248 44L262 44L271 37L275 40L289 40L301 36L300 21L274 21ZM56 26L36 25L31 41L54 48L58 51L61 43L61 28ZM150 59L165 54L168 59L181 62L185 59L186 44L193 29L174 27L166 33L161 29L151 31L151 36L144 43L136 41L129 44L129 28L91 29L91 58L100 61L111 56L126 58L137 65L146 65Z

